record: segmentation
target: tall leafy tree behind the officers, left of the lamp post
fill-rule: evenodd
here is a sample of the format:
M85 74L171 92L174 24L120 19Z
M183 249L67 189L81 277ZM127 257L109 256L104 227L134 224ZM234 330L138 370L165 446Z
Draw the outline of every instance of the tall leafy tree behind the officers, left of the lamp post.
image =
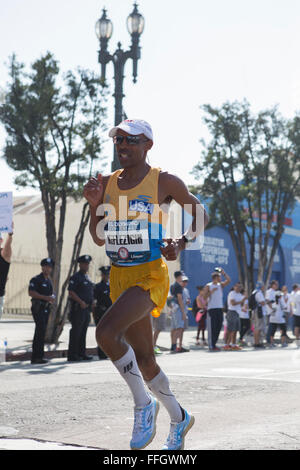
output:
M17 172L17 185L41 193L48 255L55 260L54 290L59 294L67 200L81 197L95 160L100 166L104 163L100 157L105 90L99 78L86 70L61 76L58 62L49 52L32 64L29 73L13 56L9 75L0 106L0 121L7 134L4 158ZM78 233L81 230L79 226ZM78 240L82 243L81 237ZM48 323L48 342L57 340L62 304L58 295Z

